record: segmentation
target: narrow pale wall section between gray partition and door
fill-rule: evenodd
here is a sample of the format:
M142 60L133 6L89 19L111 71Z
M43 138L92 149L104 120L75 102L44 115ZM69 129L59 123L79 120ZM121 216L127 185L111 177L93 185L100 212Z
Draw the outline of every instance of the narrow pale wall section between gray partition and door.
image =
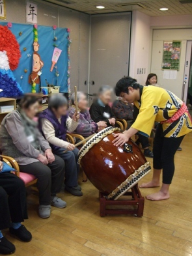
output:
M150 61L150 16L133 11L131 28L130 76L141 84L146 81ZM137 74L137 68L145 68L146 74Z

